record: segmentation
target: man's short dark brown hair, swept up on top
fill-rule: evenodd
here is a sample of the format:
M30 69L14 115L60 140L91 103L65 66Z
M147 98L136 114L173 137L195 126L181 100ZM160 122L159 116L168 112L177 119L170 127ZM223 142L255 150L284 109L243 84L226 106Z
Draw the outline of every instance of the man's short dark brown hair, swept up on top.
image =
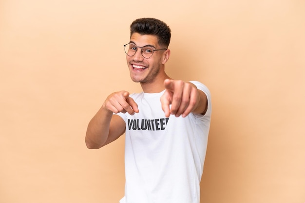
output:
M158 44L169 47L171 41L171 29L163 21L152 17L138 18L130 25L130 37L133 33L141 35L151 34L158 39Z

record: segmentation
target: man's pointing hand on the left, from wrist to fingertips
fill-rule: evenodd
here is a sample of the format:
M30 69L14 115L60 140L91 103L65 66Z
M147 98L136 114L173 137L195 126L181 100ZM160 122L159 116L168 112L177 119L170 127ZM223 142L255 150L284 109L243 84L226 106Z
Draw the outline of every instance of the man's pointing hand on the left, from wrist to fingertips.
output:
M112 93L107 97L102 107L113 113L127 112L130 115L133 115L134 113L139 112L137 103L133 98L129 97L129 92L127 91Z

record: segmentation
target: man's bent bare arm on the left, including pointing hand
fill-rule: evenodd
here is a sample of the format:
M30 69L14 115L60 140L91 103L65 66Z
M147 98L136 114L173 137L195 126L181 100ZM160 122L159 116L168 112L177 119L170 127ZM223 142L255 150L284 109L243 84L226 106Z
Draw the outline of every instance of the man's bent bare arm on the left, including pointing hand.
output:
M89 149L99 149L125 132L125 121L113 113L133 115L138 112L137 104L126 91L114 92L109 95L102 107L90 120L86 132L85 142Z

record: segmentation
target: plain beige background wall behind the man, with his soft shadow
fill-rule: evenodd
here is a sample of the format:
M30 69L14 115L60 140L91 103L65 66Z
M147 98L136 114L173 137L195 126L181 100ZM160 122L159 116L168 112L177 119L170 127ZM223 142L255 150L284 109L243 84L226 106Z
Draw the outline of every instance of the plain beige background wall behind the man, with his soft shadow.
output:
M84 143L114 91L140 91L123 44L172 28L173 78L213 113L201 203L305 202L304 0L0 0L0 203L118 203L124 137Z

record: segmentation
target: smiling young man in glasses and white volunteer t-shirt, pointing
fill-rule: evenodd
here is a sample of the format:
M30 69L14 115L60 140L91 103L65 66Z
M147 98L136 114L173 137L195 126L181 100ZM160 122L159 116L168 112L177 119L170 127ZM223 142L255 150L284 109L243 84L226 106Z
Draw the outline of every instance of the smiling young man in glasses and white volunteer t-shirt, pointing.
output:
M120 203L199 203L210 128L208 88L171 79L170 28L155 18L131 24L125 47L130 77L143 92L114 92L91 119L90 149L125 133L125 196Z

